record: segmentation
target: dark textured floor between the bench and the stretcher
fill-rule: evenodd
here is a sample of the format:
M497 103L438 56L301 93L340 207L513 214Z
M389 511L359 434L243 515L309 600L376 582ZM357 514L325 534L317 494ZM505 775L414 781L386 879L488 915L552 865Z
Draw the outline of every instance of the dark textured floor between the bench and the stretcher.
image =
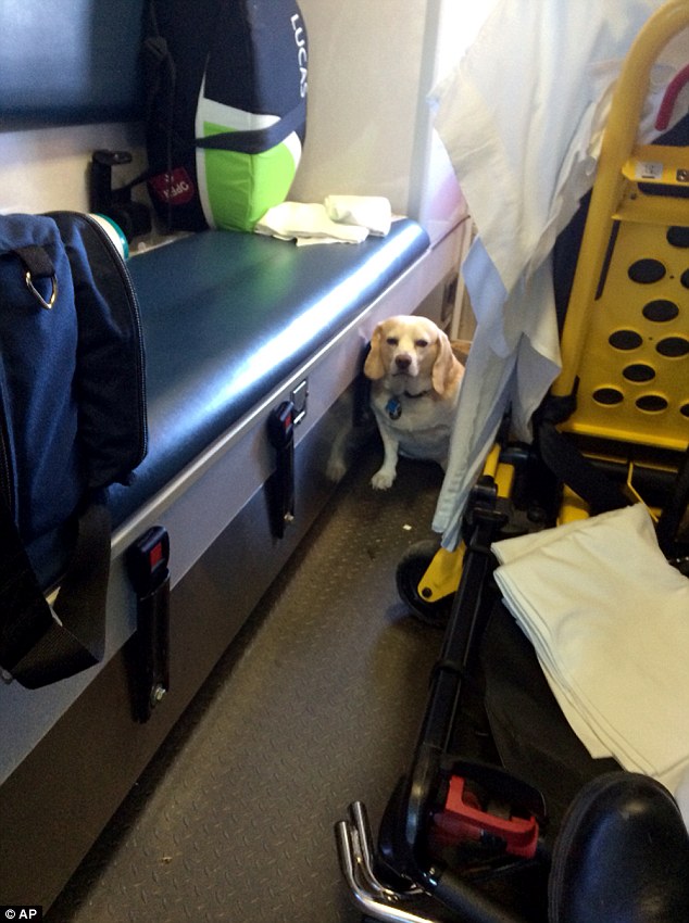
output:
M430 536L442 472L348 476L46 919L354 923L334 823L374 827L404 770L441 634L394 570Z

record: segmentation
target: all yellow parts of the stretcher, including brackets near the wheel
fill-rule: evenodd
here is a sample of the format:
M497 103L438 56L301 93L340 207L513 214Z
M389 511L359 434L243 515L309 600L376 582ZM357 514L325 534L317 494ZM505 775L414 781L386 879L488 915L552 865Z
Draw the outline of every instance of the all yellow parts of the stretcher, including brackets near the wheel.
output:
M621 285L618 268L613 267L614 261L611 258L611 251L617 250L619 253L619 228L625 227L631 230L632 245L641 243L642 248L649 245L655 248L648 252L660 253L661 258L657 262L662 262L666 258L665 248L661 246L659 251L659 244L648 243L647 239L657 233L659 227L689 225L689 200L673 200L667 195L647 195L641 191L642 186L689 188L687 149L636 143L651 68L668 41L687 27L689 27L687 0L668 0L649 18L623 63L605 125L563 328L562 371L551 388L554 396L566 397L575 391L581 392L582 380L585 384L589 383L591 394L597 387L600 389L604 385L591 385L589 379L598 378L601 381L614 382L607 387L611 393L613 389L618 390L623 394L622 401L616 404L601 404L588 399L579 402L578 393L577 409L561 428L586 437L603 438L606 441L612 439L634 443L637 446L650 444L671 452L686 452L689 443L689 354L679 356L678 364L674 366L675 370L679 368L678 381L672 382L667 379L662 380L660 387L655 384L656 396L662 399L656 402L656 406L665 401L664 409L662 412L640 409L639 390L635 391L635 385L640 382L627 383L624 380L626 358L624 355L622 362L617 363L622 366L624 387L621 389L619 368L615 378L600 379L601 370L605 365L604 359L609 359L611 354L610 339L615 332L615 325L622 323L616 315L612 320L607 314L603 320L600 318L604 313L601 307L605 306L603 295ZM652 168L646 168L649 164L653 165ZM685 251L687 252L689 251ZM624 264L624 256L622 262ZM672 277L667 281L673 285L677 282L677 274L672 268L666 269L665 275ZM657 300L671 301L671 298L666 296L665 289L663 289L663 298ZM598 312L598 323L591 325L591 317L596 316L596 312ZM676 319L678 320L677 338L681 340L685 337L689 344L688 305L685 304L684 311L679 312ZM650 368L655 374L654 380L656 380L657 366L662 364L662 357L659 361L653 354L655 331L649 333L638 330L638 318L636 320L634 332L641 338L643 342L640 345L646 349L637 352L634 359L636 365ZM605 330L605 325L610 331ZM593 329L591 329L592 326ZM663 336L667 338L666 330ZM599 343L603 339L602 346L593 344L597 338ZM601 349L605 353L603 357ZM652 362L649 361L649 355L653 356ZM672 363L668 367L673 369ZM669 385L673 383L678 387L671 399L669 392L674 389ZM628 397L631 400L627 400ZM619 404L626 404L626 406L621 408ZM628 410L627 407L631 409ZM664 419L661 420L661 416ZM486 460L484 475L494 480L499 497L509 497L514 469L511 465L500 462L500 452L499 445L493 446ZM629 463L627 483L628 489L634 492L632 477L634 464ZM586 516L588 516L586 504L574 492L565 489L559 521L571 521L586 518ZM464 551L462 543L454 551L440 548L435 554L417 586L418 595L426 604L440 603L456 591L462 573Z

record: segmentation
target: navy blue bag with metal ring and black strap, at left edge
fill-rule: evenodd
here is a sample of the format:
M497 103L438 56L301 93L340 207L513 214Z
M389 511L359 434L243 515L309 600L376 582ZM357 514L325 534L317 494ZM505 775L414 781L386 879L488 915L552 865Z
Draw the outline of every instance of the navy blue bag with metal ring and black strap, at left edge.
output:
M88 215L0 216L0 668L36 688L103 656L105 489L146 455L145 355Z

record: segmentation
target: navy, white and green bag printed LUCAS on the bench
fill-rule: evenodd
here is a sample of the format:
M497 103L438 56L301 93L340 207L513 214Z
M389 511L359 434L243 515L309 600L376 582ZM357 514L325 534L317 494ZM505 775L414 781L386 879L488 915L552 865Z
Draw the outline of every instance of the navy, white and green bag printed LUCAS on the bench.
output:
M306 126L296 0L150 0L151 200L168 230L252 230L285 200Z

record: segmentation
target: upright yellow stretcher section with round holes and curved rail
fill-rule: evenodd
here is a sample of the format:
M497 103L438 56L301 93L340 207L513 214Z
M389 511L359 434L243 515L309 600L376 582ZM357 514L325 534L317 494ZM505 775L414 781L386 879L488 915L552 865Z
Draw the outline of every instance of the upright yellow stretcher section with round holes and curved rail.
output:
M687 307L672 321L672 331L666 324L661 325L667 328L662 333L657 324L647 320L642 309L635 307L651 294L655 301L672 302L679 291L686 299L680 267L684 265L686 270L687 265L679 261L686 261L687 251L673 249L659 231L673 225L689 225L689 203L687 199L649 195L641 190L689 190L689 154L686 148L637 146L636 138L651 68L667 42L688 26L689 4L686 0L672 0L650 17L623 64L602 140L562 334L562 371L551 389L555 396L578 389L577 409L562 425L564 431L678 452L686 450L689 438ZM629 248L639 249L630 249L627 255L626 240ZM648 254L659 269L665 269L664 276L650 285L635 283L628 275L628 261L635 253ZM639 345L630 350L612 347L610 339L621 329L637 334ZM687 352L676 357L659 353L657 338L668 340L671 336L676 349L681 350L684 340ZM644 382L625 378L625 368L629 367L626 363L655 374L646 402L648 407L663 409L638 406L644 400L639 396ZM596 381L609 382L610 393L617 392L622 400L612 404L592 401L596 384L590 382Z

